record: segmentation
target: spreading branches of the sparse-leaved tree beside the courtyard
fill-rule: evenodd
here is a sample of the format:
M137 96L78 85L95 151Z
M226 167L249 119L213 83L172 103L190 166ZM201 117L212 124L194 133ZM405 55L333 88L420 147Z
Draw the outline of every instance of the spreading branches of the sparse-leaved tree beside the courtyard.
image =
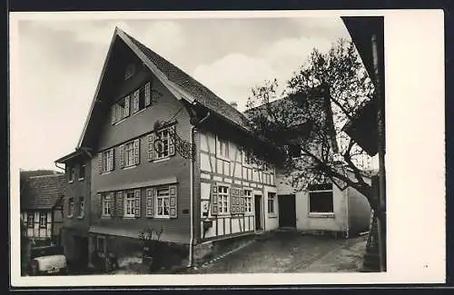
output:
M342 132L374 93L354 44L340 39L326 54L313 49L281 88L277 80L252 88L245 113L252 133L278 151L281 158L274 161L291 185L305 190L329 179L361 192L376 209L370 156Z

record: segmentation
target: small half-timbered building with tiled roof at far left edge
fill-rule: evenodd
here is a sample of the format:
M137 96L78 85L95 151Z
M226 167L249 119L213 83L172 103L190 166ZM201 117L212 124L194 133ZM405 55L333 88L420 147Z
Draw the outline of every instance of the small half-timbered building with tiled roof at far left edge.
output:
M35 243L59 242L63 225L64 174L28 177L21 190L25 235Z

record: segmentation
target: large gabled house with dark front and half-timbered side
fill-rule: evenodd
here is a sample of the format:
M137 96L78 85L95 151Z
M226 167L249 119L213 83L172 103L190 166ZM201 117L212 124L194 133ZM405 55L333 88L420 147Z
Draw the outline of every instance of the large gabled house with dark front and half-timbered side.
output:
M84 243L90 263L133 255L150 227L191 264L211 241L278 228L275 168L245 146L272 152L235 107L116 28L76 150L56 161L67 256Z

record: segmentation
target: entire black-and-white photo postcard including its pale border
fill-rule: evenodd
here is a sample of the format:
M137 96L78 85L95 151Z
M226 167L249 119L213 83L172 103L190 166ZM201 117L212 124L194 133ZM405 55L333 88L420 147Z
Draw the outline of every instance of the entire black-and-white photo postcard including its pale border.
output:
M389 17L370 12L45 15L11 16L17 281L370 282L393 267L404 280L406 253L415 277L444 280L444 170L403 158L418 115L389 89L406 80L391 71L416 62L390 57L405 25L388 37ZM428 15L428 30L442 24ZM443 55L428 59L443 77ZM444 136L444 96L431 99L424 136Z

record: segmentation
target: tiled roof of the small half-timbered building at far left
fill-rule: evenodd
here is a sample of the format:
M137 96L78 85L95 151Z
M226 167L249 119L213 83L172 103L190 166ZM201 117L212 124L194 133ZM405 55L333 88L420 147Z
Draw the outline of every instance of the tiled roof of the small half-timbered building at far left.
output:
M21 193L21 210L50 210L62 196L64 174L32 176Z

